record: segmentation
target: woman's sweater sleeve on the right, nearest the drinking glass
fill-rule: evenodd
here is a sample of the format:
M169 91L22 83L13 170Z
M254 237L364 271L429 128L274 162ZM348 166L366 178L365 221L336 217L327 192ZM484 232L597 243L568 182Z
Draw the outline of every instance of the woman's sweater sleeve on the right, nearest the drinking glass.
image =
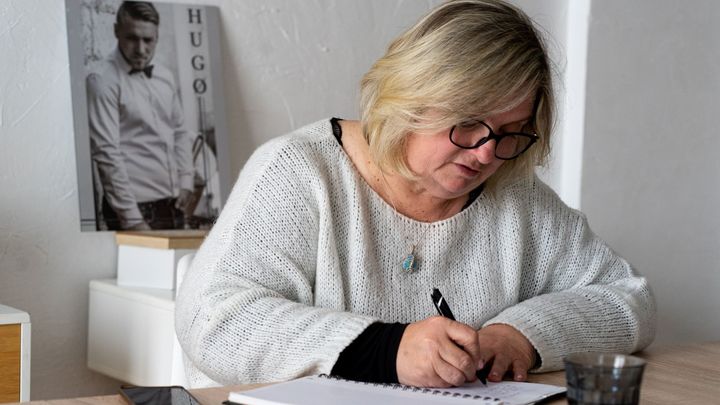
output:
M520 246L519 303L484 326L508 324L535 346L541 366L563 367L572 352L631 353L655 334L655 302L647 279L613 252L572 210L535 179ZM527 195L526 195L527 196Z

